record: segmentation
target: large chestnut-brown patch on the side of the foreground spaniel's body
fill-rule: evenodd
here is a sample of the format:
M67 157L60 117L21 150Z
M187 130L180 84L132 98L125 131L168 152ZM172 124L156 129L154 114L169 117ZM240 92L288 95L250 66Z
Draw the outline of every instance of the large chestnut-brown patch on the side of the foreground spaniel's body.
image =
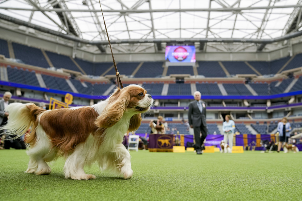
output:
M76 145L85 142L89 134L96 133L98 128L93 122L97 116L91 107L56 109L42 114L40 125L51 139L53 147L67 155ZM103 132L97 133L101 135Z

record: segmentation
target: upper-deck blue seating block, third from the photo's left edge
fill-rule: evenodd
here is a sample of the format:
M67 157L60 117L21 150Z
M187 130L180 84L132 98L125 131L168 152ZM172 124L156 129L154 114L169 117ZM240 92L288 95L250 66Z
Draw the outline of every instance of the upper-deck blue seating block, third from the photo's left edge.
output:
M48 51L45 52L48 58L50 59L52 65L54 65L56 68L65 68L68 70L81 72L80 69L76 66L76 64L71 60L70 57L62 54L56 54L53 52L48 52Z

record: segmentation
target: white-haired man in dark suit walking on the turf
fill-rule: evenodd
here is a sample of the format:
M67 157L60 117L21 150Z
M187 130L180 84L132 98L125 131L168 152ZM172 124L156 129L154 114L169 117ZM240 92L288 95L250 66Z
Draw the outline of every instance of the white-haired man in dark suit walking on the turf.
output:
M203 141L206 139L206 103L200 100L201 93L194 92L194 101L189 104L188 119L191 128L194 128L195 150L197 154L202 154ZM200 137L201 132L201 137Z

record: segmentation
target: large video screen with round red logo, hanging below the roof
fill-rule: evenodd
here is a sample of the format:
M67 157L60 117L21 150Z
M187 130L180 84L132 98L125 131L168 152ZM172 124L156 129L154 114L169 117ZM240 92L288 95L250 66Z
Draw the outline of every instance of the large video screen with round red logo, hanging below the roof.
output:
M165 60L167 62L195 62L196 58L194 43L167 43Z

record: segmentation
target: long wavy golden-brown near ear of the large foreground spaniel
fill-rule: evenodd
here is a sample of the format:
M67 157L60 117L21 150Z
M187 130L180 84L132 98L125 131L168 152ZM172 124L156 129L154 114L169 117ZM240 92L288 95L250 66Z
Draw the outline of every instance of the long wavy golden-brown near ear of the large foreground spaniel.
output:
M101 115L95 120L95 125L100 128L109 128L116 124L123 116L125 109L130 101L129 93L116 94L118 97L113 102L109 100L108 105L102 111Z

